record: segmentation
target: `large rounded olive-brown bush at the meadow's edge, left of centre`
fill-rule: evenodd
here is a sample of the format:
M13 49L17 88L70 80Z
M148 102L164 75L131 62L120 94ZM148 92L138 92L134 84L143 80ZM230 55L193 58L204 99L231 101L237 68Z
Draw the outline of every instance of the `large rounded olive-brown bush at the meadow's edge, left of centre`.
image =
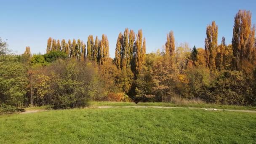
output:
M104 85L91 63L59 59L50 69L54 107L85 107L90 99L104 96Z

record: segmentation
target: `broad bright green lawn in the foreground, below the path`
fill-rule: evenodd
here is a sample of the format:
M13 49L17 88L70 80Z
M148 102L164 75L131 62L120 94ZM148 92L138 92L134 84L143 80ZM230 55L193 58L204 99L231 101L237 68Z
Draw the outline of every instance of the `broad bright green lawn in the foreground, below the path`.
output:
M0 115L0 143L255 143L256 114L200 109L66 109Z

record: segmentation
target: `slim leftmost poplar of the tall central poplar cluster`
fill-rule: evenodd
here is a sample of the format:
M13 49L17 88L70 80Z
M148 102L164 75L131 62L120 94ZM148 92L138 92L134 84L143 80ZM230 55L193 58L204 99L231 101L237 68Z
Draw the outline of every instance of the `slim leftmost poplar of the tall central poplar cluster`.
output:
M117 38L117 44L115 47L115 64L117 66L117 69L121 69L121 58L122 58L122 33L120 32Z

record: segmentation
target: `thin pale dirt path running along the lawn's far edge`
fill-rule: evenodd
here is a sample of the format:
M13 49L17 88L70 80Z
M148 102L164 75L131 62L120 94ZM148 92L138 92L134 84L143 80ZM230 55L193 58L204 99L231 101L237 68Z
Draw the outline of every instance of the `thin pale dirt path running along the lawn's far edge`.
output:
M95 107L95 108L100 108L100 109L107 109L107 108L161 108L161 109L203 109L203 110L208 110L208 111L229 111L229 112L250 112L250 113L256 113L255 110L235 110L235 109L213 109L213 108L198 108L198 107L161 107L161 106L100 106L100 107ZM21 114L28 114L28 113L35 113L35 112L45 112L45 111L50 111L50 110L44 110L44 109L39 109L39 110L27 110L25 112L21 112Z

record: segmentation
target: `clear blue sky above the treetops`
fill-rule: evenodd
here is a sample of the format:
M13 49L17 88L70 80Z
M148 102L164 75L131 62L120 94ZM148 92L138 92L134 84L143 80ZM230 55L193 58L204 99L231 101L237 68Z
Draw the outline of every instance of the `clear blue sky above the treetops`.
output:
M125 28L142 29L147 53L161 49L172 30L176 46L186 42L204 48L211 21L219 28L218 43L222 36L231 43L240 9L250 10L256 24L256 0L0 0L0 37L17 54L26 46L43 54L48 37L86 42L88 35L106 34L114 58Z

